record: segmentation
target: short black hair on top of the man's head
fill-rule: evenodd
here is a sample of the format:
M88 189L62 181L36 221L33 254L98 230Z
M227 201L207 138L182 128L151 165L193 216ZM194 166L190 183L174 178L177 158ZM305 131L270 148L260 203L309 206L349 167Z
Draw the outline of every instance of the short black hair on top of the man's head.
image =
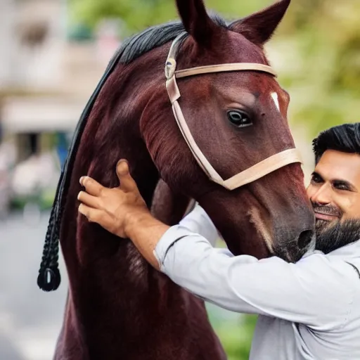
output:
M321 132L314 139L312 145L316 164L326 150L338 150L342 153L356 153L360 155L360 122L331 127Z

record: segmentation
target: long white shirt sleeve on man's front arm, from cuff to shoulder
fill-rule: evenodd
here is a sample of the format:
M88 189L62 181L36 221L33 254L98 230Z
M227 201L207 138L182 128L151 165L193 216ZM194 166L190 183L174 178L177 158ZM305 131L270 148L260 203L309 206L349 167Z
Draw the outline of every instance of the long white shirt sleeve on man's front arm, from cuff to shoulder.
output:
M172 281L231 311L329 330L341 326L352 302L344 275L323 255L309 255L296 264L278 257L235 257L181 225L165 233L155 255Z

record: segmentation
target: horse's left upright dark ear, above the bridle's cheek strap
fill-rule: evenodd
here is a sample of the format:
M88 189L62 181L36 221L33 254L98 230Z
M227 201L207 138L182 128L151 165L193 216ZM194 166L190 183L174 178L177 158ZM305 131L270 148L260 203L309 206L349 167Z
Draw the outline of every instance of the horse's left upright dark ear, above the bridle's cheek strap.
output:
M176 0L185 30L203 46L209 45L217 25L212 21L203 0Z

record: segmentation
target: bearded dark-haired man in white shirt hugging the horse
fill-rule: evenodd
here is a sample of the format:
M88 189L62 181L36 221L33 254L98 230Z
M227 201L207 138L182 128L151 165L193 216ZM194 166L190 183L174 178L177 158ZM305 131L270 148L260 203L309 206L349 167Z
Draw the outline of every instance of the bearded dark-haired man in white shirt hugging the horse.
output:
M316 250L296 264L212 248L217 236L197 207L169 228L148 212L127 162L120 188L83 177L79 212L122 238L180 286L232 311L259 314L250 359L360 359L360 123L314 140L307 189L316 216Z

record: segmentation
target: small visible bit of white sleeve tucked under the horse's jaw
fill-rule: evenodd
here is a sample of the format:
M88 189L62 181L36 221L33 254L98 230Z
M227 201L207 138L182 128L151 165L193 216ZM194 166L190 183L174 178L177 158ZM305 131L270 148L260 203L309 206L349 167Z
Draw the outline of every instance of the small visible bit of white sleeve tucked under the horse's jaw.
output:
M217 228L205 212L203 207L198 203L195 204L193 210L180 221L180 225L188 229L192 233L198 233L203 236L212 246L215 246L220 238Z

